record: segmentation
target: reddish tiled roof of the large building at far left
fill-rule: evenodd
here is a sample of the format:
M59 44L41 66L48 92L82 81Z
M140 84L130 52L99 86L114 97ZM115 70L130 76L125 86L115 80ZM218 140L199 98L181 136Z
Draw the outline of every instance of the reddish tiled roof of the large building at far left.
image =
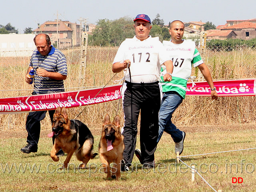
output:
M58 23L58 31L73 31L70 27L66 26L65 23L70 23L70 22L63 22L59 21ZM35 29L35 32L38 32L40 30L44 31L56 31L57 27L48 27L46 25L54 25L57 24L56 21L46 21L42 25L40 25L40 28Z

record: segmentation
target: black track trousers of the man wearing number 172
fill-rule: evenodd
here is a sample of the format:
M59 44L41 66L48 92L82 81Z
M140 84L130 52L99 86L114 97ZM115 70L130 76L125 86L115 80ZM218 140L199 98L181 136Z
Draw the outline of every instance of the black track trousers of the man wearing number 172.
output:
M158 82L126 82L124 91L124 153L125 162L130 165L136 148L138 116L140 121L140 150L143 163L154 165L154 152L158 138L158 112L161 98Z

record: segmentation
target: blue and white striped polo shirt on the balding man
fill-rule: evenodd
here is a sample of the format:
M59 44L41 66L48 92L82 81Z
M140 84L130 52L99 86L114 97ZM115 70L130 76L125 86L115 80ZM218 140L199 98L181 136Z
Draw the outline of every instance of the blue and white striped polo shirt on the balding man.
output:
M64 92L63 80L54 80L36 74L36 69L42 68L49 72L58 72L62 75L68 75L66 58L60 50L51 45L51 50L46 56L41 55L38 50L34 50L29 66L32 67L35 72L33 94Z

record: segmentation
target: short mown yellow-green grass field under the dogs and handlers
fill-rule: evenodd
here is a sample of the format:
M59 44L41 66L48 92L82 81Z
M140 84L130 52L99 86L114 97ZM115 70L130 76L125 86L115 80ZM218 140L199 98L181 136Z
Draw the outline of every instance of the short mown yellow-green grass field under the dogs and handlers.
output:
M90 128L94 135L94 152L98 152L100 126ZM182 156L254 148L254 127L255 124L179 127L186 132ZM134 156L134 170L122 172L121 180L116 181L106 179L98 156L88 162L89 169L76 169L80 162L75 156L71 158L69 169L61 169L66 155L59 162L52 161L52 140L47 138L50 131L41 132L38 152L30 154L20 152L26 144L25 130L0 132L0 191L255 191L255 149L180 158L188 166L194 164L213 190L198 174L195 182L191 182L190 168L181 162L176 164L174 142L166 133L155 153L155 169L142 170ZM137 146L139 148L139 140ZM233 177L240 177L243 182L234 184Z

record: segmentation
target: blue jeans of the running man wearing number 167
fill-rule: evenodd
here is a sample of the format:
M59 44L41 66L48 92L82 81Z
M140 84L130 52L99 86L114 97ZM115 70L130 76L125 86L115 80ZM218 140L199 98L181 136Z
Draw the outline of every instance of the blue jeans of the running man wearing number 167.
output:
M182 140L182 131L176 128L172 123L172 114L182 103L183 98L175 91L164 92L162 104L159 110L159 130L158 139L162 137L163 132L170 134L174 142L180 142Z

